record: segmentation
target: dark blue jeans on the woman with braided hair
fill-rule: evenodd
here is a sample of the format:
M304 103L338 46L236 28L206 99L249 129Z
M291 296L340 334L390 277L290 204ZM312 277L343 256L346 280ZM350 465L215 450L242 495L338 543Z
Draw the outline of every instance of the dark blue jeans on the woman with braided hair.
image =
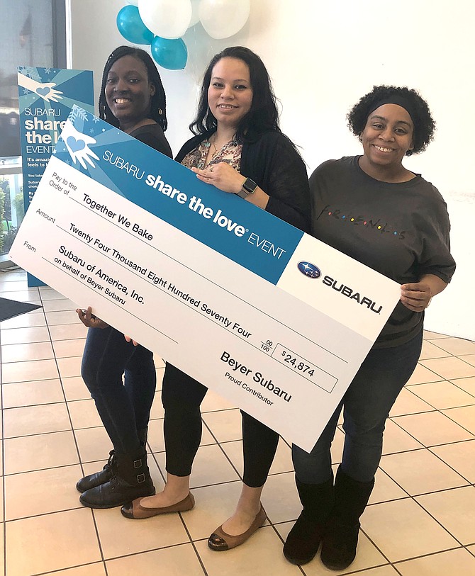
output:
M139 451L138 431L147 428L157 385L153 353L111 326L89 328L81 375L114 450Z

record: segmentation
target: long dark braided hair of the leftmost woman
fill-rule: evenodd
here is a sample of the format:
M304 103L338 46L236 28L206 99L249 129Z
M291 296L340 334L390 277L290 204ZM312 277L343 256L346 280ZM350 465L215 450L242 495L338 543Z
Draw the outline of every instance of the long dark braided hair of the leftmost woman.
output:
M118 120L113 115L111 108L108 107L104 91L106 89L109 70L113 66L114 62L117 62L117 60L123 56L133 56L134 58L141 60L145 65L148 81L155 86L155 94L150 98L150 118L155 120L157 124L160 124L163 131L167 130L166 98L160 74L153 63L152 57L150 57L145 50L133 48L132 46L119 46L107 59L106 65L104 66L104 72L102 73L101 94L99 94L99 118L106 120L106 122L118 128Z

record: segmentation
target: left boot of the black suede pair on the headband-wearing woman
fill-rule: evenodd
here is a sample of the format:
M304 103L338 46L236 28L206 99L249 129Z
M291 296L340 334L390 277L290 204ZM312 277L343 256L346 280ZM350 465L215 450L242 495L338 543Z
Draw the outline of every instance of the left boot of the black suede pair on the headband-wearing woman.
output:
M322 484L303 484L296 478L296 485L303 510L287 536L284 556L291 564L306 564L318 552L333 507L333 474Z

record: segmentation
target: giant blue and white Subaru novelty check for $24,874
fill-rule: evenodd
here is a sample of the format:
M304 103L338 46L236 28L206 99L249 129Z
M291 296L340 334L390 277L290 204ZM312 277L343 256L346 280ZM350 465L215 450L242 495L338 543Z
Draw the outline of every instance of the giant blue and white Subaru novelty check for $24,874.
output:
M308 451L400 295L79 108L11 258Z

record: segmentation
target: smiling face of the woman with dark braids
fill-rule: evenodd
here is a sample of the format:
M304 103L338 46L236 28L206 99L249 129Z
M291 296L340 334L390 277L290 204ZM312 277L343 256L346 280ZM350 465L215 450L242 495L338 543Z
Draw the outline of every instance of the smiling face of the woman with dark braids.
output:
M131 55L113 63L106 79L106 102L121 130L131 130L150 115L155 86L148 81L142 60Z

